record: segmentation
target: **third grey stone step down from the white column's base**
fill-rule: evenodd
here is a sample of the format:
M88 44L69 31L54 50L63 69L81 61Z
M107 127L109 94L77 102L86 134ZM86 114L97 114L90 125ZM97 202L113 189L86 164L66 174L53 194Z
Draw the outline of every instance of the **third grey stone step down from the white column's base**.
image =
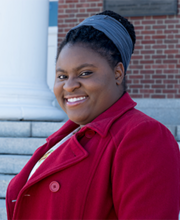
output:
M0 174L18 174L31 156L0 155Z

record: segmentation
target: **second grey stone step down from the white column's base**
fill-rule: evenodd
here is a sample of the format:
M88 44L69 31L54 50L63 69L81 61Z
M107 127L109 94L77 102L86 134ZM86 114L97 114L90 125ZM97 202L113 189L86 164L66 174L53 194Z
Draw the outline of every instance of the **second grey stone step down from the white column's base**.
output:
M45 138L0 137L0 154L32 155L44 143Z

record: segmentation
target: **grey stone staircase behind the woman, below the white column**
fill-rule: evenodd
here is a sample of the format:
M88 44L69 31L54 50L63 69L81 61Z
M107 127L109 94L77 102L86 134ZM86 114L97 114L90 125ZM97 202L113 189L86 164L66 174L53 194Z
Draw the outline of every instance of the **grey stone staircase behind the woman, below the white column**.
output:
M46 137L64 122L0 121L0 220L7 220L6 188L22 169L33 152L45 143ZM179 141L180 126L167 126Z

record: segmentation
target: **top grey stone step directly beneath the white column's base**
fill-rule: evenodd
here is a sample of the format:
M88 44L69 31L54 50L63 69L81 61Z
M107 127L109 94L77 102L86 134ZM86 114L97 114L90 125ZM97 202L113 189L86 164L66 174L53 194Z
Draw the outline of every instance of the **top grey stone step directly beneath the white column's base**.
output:
M48 137L64 122L0 121L0 137Z

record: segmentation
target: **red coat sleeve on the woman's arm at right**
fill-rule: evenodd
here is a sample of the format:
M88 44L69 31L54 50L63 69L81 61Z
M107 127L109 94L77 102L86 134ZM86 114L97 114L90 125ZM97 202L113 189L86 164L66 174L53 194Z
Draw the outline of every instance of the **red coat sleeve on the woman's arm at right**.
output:
M178 144L163 125L144 122L124 136L112 167L112 193L119 220L178 220Z

